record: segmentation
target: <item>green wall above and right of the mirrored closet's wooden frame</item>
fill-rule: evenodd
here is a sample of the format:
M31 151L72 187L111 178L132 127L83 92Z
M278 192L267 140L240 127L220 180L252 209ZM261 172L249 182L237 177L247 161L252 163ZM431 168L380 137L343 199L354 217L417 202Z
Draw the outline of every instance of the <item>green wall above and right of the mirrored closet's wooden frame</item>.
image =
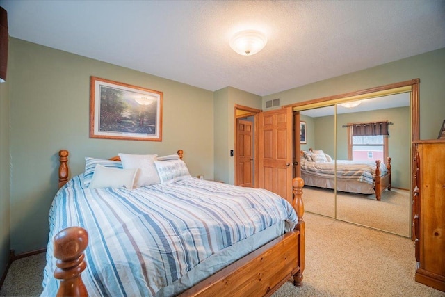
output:
M292 104L420 79L420 137L435 139L445 119L445 48L263 97ZM267 111L268 109L264 109Z

